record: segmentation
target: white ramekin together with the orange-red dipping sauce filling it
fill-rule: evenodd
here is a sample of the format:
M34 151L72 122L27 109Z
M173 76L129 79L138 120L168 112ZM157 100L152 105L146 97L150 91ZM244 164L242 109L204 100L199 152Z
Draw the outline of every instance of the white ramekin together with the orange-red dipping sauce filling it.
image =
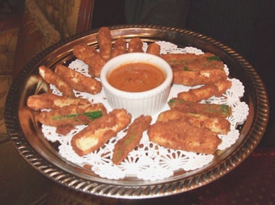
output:
M108 61L100 80L111 108L124 108L137 118L156 114L166 105L173 72L159 56L128 53Z

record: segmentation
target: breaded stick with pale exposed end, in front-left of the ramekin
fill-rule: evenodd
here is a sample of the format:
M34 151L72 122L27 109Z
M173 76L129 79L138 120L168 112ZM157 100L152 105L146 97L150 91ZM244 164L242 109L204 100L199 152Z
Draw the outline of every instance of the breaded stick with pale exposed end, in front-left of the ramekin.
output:
M113 109L109 114L89 123L71 141L74 151L83 156L102 147L111 137L131 122L131 115L125 109Z

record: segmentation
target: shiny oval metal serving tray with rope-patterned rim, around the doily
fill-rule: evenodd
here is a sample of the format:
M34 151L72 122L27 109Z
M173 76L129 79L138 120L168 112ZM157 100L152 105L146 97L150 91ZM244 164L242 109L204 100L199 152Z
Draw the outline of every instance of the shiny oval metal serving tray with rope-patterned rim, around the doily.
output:
M87 43L98 47L98 30L79 34L47 48L26 65L12 83L5 104L5 123L8 134L23 158L43 175L69 188L84 193L128 199L159 197L190 191L204 186L236 168L255 149L261 140L269 117L267 92L255 69L230 47L196 32L153 25L122 25L111 27L113 40L139 36L142 41L168 41L178 47L197 47L212 52L228 65L230 76L239 78L245 86L245 101L250 109L248 119L238 129L239 139L232 147L217 151L210 164L195 171L179 171L164 180L144 181L134 177L108 180L89 169L68 162L58 155L58 144L48 142L34 120L34 112L26 107L26 99L48 89L37 77L38 67L54 68L58 63L69 65L76 58L72 47Z

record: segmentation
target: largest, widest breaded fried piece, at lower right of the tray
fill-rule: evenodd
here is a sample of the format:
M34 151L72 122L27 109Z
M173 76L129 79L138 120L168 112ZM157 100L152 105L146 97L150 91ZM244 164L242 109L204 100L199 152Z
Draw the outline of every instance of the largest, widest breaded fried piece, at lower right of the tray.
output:
M217 133L192 126L186 120L156 122L148 128L148 137L166 148L205 154L214 154L221 143Z

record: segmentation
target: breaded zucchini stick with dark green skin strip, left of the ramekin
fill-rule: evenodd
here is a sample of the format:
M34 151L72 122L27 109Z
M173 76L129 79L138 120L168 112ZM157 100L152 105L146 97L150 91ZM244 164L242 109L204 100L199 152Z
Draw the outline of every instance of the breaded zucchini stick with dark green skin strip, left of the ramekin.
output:
M107 114L102 103L87 105L68 105L51 111L41 111L36 119L44 125L59 127L63 125L87 125L89 122Z

